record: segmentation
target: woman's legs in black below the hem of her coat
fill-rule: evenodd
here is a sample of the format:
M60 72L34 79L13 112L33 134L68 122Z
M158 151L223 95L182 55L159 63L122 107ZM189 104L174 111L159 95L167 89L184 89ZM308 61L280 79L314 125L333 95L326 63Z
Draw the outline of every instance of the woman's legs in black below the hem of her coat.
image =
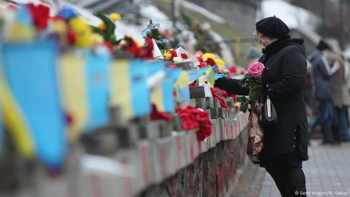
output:
M265 169L283 197L306 196L305 175L301 167L271 165Z

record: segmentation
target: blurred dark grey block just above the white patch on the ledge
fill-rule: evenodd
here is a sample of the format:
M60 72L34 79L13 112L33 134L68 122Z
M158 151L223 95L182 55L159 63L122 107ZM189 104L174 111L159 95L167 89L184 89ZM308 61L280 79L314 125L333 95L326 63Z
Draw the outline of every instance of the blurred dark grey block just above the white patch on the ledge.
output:
M120 145L114 126L100 127L83 134L81 142L87 153L99 155L111 154Z

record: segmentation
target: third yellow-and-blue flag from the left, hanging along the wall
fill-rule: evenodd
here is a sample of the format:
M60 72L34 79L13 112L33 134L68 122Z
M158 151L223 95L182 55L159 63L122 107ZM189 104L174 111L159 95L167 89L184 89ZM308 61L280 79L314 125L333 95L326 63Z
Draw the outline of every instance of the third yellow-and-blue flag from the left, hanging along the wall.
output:
M110 68L110 105L120 106L126 120L150 113L147 62L115 60Z

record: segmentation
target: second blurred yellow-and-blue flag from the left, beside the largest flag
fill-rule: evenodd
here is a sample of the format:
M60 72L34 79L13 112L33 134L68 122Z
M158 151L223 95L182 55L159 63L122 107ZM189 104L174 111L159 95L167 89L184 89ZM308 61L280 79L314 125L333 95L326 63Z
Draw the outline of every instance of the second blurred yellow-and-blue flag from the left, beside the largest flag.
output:
M109 63L108 55L66 52L60 56L64 111L72 117L70 140L108 122Z

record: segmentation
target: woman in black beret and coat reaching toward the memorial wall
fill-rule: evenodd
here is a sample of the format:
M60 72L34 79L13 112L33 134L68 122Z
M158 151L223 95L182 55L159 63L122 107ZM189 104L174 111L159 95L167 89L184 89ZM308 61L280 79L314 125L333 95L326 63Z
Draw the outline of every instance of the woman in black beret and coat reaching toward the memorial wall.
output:
M282 196L306 196L302 160L307 160L308 128L303 100L306 57L303 39L291 39L288 26L279 18L267 17L255 23L265 65L264 97L270 97L278 122L262 125L264 144L260 166L272 176ZM215 86L228 93L248 95L237 79L220 78ZM296 193L298 195L296 195ZM300 195L300 193L302 193Z

